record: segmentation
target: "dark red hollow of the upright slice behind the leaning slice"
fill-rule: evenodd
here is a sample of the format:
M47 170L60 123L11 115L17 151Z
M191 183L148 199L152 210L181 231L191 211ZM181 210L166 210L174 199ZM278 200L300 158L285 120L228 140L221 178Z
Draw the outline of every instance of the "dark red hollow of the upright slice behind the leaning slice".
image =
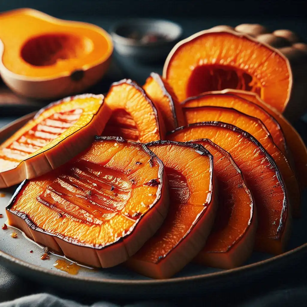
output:
M140 133L134 119L123 109L117 109L112 112L103 135L121 136L135 142L140 139Z

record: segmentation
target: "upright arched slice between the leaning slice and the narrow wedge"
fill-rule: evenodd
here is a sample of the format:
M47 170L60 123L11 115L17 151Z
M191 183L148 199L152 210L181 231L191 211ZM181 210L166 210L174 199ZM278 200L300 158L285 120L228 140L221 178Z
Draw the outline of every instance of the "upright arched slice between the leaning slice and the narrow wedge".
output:
M112 115L103 135L142 143L164 138L162 116L144 90L132 80L113 83L105 101Z

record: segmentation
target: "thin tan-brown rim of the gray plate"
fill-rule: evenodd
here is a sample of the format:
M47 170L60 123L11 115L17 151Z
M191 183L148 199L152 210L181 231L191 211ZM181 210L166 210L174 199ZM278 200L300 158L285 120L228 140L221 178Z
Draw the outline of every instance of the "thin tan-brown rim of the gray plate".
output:
M9 132L12 132L13 127L22 124L23 122L33 118L33 116L36 114L36 112L29 113L27 115L24 115L9 124L3 126L0 128L0 138L3 138L3 134L6 133L7 130ZM9 133L8 132L8 133ZM198 275L192 275L192 276L183 276L183 277L173 277L173 278L166 278L166 279L114 279L114 278L95 278L95 277L85 277L80 275L70 275L70 274L64 274L62 272L52 271L51 269L43 268L38 265L34 265L32 263L26 262L24 260L21 260L19 258L16 258L12 255L7 254L6 252L2 251L0 249L0 258L8 260L12 262L14 265L25 267L27 269L43 273L43 274L50 274L54 275L56 277L60 278L68 278L73 281L86 281L86 282L95 282L100 284L108 284L108 285L165 285L165 284L175 284L175 283L182 283L182 282L188 282L188 281L197 281L197 280L210 280L212 278L217 277L223 277L223 276L231 276L231 274L235 274L237 272L247 272L249 270L255 269L255 268L261 268L265 266L266 264L270 264L273 262L276 262L283 258L288 258L291 255L296 255L304 250L307 250L307 243L304 243L298 247L295 247L291 249L290 251L286 251L285 253L282 253L280 255L275 255L273 257L257 261L251 264L247 264L244 266L239 266L233 269L218 271L218 272L212 272L212 273L206 273L206 274L198 274ZM3 262L2 262L3 263Z

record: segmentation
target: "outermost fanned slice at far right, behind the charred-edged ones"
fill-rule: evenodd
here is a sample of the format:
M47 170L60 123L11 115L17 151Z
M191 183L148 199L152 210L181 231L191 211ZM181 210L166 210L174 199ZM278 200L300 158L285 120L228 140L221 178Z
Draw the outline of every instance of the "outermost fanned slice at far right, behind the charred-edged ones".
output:
M239 90L225 90L225 93L232 93L238 95L241 98L247 99L259 107L263 108L268 114L270 114L282 127L282 131L285 134L287 146L292 153L293 163L297 178L303 186L307 186L307 148L302 140L301 136L294 129L294 127L287 121L287 119L276 109L262 101L256 94L252 92L239 91ZM258 117L258 116L257 116ZM265 124L266 125L266 124Z

